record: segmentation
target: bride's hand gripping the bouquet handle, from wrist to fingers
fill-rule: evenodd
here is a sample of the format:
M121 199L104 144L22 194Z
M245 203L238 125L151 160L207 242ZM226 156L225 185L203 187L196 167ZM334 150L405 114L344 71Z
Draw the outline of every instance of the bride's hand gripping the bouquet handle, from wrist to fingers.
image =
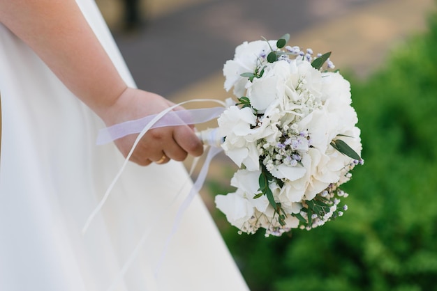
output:
M117 102L100 114L107 126L157 114L174 105L160 95L127 88L117 98ZM182 110L181 107L173 110ZM117 139L114 143L126 157L138 135L131 134ZM142 166L152 162L163 164L170 159L183 161L187 155L200 156L203 152L201 141L195 136L192 126L181 125L149 129L136 146L131 161Z

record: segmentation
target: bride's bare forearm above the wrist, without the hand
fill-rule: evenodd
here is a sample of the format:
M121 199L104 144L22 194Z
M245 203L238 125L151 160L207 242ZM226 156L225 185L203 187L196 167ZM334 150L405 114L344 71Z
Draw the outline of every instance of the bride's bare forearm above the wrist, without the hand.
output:
M126 89L74 0L0 0L0 21L97 113Z

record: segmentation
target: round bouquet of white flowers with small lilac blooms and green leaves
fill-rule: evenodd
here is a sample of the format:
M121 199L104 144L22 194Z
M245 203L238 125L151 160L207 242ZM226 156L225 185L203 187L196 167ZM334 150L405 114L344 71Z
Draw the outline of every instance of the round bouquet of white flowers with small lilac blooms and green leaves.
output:
M330 53L279 40L244 42L223 68L236 100L218 118L221 145L239 170L216 205L239 233L310 230L347 210L339 186L362 164L350 84Z

